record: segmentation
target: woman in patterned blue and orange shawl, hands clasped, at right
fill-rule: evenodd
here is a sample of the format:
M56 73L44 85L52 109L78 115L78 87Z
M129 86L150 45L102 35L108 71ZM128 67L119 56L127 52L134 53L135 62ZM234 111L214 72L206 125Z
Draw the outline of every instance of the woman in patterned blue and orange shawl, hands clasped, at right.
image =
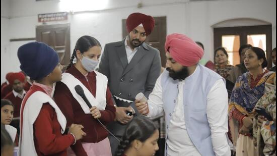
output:
M252 156L257 155L252 132L253 111L258 100L264 95L265 83L273 84L275 73L263 69L267 66L267 61L261 48L250 47L245 56L244 64L249 72L238 78L232 91L229 123L232 140L236 145L236 155Z

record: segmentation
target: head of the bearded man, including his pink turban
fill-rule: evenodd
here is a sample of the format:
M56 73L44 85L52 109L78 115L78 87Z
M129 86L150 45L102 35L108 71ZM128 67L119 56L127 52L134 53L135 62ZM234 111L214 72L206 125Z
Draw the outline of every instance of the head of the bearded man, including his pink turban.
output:
M192 74L204 54L203 49L192 39L177 33L166 37L165 51L168 58L166 70L174 80L184 80Z

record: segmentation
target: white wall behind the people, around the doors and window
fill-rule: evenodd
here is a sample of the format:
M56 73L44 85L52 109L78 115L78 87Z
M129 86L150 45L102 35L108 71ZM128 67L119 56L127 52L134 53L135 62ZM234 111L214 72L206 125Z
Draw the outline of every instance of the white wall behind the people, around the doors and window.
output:
M211 60L213 60L214 49L213 27L217 23L230 19L250 18L272 24L272 46L276 46L275 0L229 0L193 3L187 0L107 1L107 5L103 10L70 14L68 21L65 21L65 23L71 24L71 49L74 48L77 39L82 35L96 37L102 46L108 42L121 40L121 20L127 18L133 12L141 12L155 17L166 16L167 34L183 33L194 40L201 41L205 46L204 58ZM136 4L139 2L144 4L141 9L136 8ZM9 16L11 18L6 22L4 28L2 28L3 19L1 19L1 32L4 30L9 32L6 35L10 38L35 37L35 27L41 25L37 22L37 14L68 11L59 8L59 4L59 1L10 0ZM54 24L58 23L64 22ZM1 49L4 42L2 37ZM19 67L16 67L19 65L16 57L17 48L25 42L11 42L7 52L4 53L3 49L1 50L2 82L5 80L7 72L19 70ZM3 71L3 66L11 62L14 66L8 66L8 68L6 66Z

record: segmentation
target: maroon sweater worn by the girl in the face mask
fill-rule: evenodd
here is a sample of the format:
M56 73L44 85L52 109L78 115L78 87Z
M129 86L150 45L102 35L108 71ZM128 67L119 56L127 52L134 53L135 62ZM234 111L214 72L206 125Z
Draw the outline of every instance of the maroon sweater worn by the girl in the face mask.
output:
M66 73L72 74L75 78L79 79L93 94L96 94L96 73L90 72L88 74L88 81L86 77L79 72L75 66L72 66L66 71ZM108 132L105 128L93 118L91 114L85 114L81 108L79 102L73 97L71 91L62 82L57 82L55 87L54 99L57 106L60 108L64 114L67 126L71 124L81 124L84 126L83 131L87 133L87 136L83 137L82 142L99 142L108 136ZM106 108L104 111L100 111L101 118L99 119L103 124L114 121L115 118L115 108L112 100L112 94L107 87L106 92ZM75 146L72 146L73 150L81 149L80 141L77 141Z

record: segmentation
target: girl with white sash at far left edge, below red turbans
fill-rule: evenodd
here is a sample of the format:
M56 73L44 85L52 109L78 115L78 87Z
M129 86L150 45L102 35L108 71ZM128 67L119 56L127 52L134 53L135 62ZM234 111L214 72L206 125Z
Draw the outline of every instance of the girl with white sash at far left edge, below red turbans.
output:
M1 124L4 125L7 132L10 134L15 146L18 146L18 135L17 129L13 126L10 126L14 118L14 109L15 106L13 103L7 99L1 100Z

